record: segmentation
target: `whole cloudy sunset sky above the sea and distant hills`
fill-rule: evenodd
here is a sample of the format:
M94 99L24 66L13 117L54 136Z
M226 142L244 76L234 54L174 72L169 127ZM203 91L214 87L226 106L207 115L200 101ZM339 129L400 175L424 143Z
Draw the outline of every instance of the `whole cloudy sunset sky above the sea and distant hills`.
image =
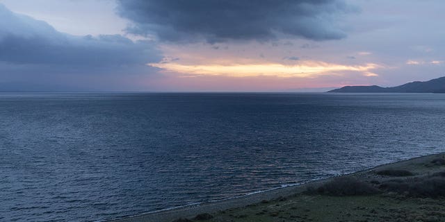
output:
M0 0L0 90L325 91L445 76L442 0Z

